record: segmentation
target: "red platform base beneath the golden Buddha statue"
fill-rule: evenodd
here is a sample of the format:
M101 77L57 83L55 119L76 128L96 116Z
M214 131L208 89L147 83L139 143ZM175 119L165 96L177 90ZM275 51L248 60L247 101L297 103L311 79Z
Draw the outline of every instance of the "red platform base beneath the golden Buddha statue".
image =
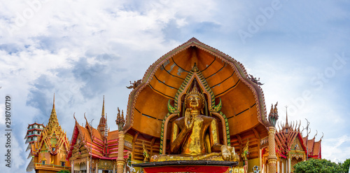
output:
M142 167L144 172L226 172L230 167L235 167L238 162L214 161L214 160L179 160L165 162L146 162L133 164L133 167Z

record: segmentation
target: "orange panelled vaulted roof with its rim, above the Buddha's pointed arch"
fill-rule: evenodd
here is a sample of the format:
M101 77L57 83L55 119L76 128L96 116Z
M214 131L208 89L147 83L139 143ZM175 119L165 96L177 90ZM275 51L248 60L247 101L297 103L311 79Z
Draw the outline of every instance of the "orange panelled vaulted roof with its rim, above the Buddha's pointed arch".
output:
M141 84L130 93L125 130L133 128L160 137L161 123L168 113L167 102L174 103L176 92L195 64L214 92L216 104L222 100L221 111L228 118L230 135L255 128L263 137L268 123L260 86L249 80L237 60L195 38L148 68Z

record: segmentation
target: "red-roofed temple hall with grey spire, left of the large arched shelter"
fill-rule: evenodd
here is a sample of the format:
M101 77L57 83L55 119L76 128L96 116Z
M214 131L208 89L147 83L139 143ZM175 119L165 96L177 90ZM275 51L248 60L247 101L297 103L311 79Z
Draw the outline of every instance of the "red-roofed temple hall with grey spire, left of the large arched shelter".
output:
M85 117L85 115L84 115ZM75 118L75 117L74 117ZM71 172L116 172L118 158L118 130L109 131L107 115L104 113L104 102L99 125L95 129L85 118L85 126L76 120L68 157ZM131 144L125 144L123 155L131 151Z

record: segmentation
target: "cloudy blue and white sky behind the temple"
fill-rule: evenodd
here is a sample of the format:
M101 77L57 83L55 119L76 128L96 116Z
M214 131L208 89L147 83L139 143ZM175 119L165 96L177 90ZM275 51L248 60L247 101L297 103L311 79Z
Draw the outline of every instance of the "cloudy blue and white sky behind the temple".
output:
M349 1L0 1L0 150L12 103L12 168L25 172L29 123L48 123L53 93L71 139L73 113L95 127L105 95L109 127L126 109L129 81L195 37L260 78L280 122L309 120L322 157L350 158ZM304 132L304 135L306 133Z

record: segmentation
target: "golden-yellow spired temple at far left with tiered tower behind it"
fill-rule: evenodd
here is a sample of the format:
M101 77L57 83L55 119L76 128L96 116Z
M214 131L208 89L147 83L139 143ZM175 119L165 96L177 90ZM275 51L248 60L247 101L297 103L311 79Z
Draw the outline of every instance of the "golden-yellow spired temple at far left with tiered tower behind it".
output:
M36 173L53 173L70 169L70 162L66 160L69 140L57 120L55 96L48 125L29 125L25 139L29 141L28 158L31 158L27 172L34 169Z

